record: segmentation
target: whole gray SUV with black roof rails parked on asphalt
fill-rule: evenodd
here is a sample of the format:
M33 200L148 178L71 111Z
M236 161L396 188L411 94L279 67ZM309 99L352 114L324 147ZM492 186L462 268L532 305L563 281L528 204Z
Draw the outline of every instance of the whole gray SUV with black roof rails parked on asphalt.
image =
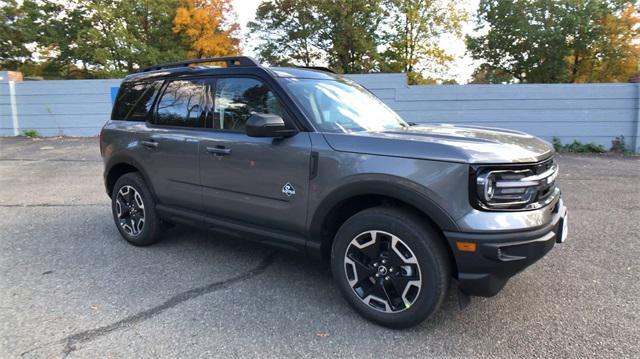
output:
M548 143L409 123L322 68L225 57L144 69L122 82L100 150L131 244L186 223L305 253L393 328L436 311L452 279L495 295L567 236Z

